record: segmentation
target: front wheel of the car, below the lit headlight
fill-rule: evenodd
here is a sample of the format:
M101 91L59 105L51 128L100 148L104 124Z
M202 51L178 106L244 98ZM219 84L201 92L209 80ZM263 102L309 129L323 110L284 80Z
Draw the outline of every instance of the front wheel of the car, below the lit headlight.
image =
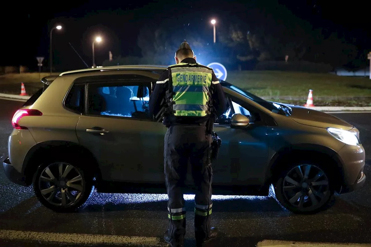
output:
M334 179L324 165L300 162L282 169L272 184L278 202L296 214L323 210L334 195Z

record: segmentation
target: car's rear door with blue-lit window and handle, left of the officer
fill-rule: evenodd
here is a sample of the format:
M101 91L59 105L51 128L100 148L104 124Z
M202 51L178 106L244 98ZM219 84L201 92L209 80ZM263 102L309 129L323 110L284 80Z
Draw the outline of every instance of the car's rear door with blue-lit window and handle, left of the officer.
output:
M150 78L132 77L88 82L76 133L98 160L103 180L163 183L165 133L148 113ZM138 98L141 85L144 97Z

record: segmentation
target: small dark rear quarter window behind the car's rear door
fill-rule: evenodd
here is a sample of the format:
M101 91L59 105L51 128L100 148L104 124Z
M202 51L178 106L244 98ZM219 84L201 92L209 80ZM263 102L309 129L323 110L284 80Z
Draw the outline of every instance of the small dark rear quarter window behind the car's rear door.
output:
M75 84L68 92L64 105L74 112L83 113L85 108L84 98L85 84Z

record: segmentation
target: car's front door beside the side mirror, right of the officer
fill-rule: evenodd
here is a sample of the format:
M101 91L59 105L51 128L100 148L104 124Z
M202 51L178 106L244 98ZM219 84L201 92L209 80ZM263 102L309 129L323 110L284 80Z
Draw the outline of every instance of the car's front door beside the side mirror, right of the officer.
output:
M226 94L227 111L214 125L221 138L217 160L213 163L214 185L261 185L268 159L267 126L262 113L237 98ZM230 127L234 113L250 119L243 129Z

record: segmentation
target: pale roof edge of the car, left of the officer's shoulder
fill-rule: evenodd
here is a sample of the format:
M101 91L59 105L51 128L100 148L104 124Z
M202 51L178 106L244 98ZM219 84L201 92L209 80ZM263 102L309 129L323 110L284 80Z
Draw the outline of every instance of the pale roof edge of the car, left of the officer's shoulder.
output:
M99 72L99 71L112 71L112 70L128 70L128 69L135 69L135 70L165 70L168 66L165 65L119 65L119 66L99 66L96 68L88 68L88 69L78 69L78 70L70 70L66 72L62 72L59 76L63 75L70 75L76 73L88 73L88 72Z

